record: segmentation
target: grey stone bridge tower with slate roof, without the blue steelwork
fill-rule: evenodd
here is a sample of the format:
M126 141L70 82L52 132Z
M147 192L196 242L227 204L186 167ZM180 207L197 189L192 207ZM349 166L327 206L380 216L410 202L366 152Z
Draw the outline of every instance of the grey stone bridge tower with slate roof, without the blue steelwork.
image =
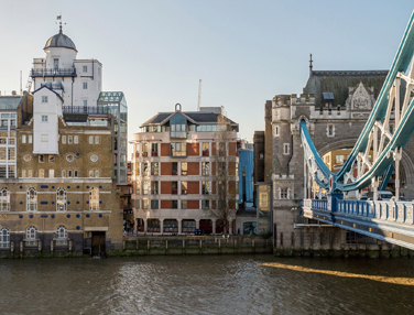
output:
M352 149L381 90L386 72L310 72L304 94L276 95L272 115L265 116L265 164L271 165L275 252L344 250L347 231L320 227L299 216L301 200L310 193L306 175L299 122L305 119L319 155ZM268 101L269 108L269 101ZM269 121L271 120L271 121ZM266 141L269 143L269 141ZM269 154L271 151L271 154ZM401 192L414 198L414 141L403 151ZM266 166L265 166L266 167ZM305 192L305 187L306 191ZM367 245L373 251L386 245Z

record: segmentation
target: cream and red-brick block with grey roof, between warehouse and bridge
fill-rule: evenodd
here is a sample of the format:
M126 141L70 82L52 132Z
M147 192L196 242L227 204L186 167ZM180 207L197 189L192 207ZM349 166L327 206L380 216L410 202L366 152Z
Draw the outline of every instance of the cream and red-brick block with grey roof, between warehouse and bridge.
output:
M135 228L145 233L206 233L224 230L214 214L218 208L217 167L229 175L228 191L238 191L238 123L227 119L220 131L221 108L200 111L160 112L141 124L133 138L133 208ZM218 133L226 133L220 142ZM219 144L221 143L221 144ZM232 209L229 231L235 230L237 199L228 200Z

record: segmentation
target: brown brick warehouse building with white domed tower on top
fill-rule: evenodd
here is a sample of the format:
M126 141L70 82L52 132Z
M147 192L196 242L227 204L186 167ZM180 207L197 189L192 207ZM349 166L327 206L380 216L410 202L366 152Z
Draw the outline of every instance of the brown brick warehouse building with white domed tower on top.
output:
M76 59L62 25L44 52L34 91L0 101L0 256L103 254L122 245L113 156L124 96L101 91L101 64Z

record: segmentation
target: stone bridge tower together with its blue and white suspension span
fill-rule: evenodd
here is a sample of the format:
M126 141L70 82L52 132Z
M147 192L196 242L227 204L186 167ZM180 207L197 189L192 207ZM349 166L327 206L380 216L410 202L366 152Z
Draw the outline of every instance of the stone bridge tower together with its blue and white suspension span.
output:
M301 96L266 102L276 252L344 249L349 232L414 249L413 203L377 200L391 167L396 199L414 198L413 52L412 15L390 70L319 72L310 59ZM342 165L329 161L336 150ZM359 200L368 191L373 200Z

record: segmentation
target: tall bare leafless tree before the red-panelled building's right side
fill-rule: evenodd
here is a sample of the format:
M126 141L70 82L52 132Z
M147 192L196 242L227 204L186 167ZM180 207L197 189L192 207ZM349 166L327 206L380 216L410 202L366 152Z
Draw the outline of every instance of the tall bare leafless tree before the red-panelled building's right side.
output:
M213 148L211 159L216 163L216 170L211 167L211 194L210 194L210 214L224 224L224 232L227 233L227 227L236 219L238 205L237 189L237 129L231 126L224 113L217 118L217 131L215 134L216 145Z

